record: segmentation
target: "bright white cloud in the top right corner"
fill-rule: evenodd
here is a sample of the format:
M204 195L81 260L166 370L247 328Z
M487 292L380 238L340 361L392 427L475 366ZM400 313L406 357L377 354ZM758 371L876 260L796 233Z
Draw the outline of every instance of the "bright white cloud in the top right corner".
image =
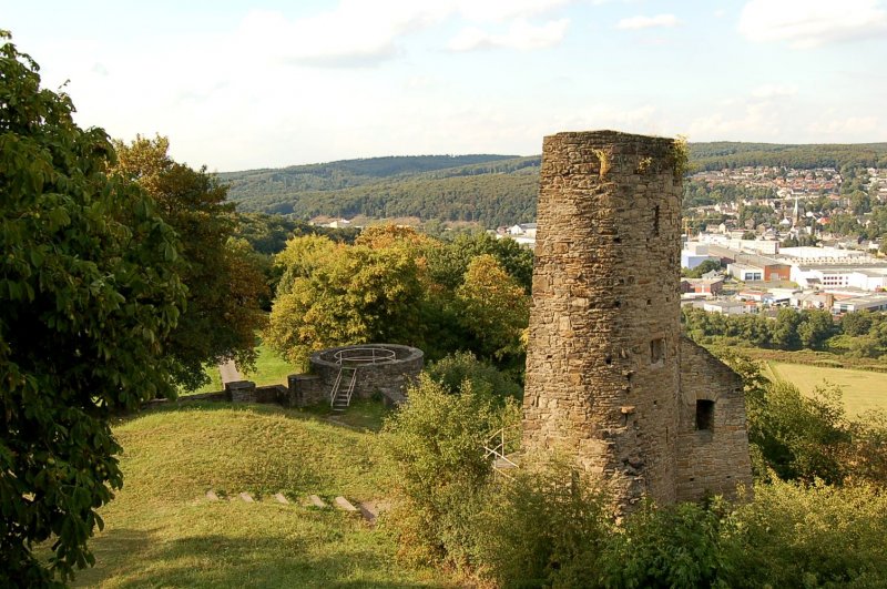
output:
M881 0L751 0L738 31L757 42L785 41L794 49L887 37Z

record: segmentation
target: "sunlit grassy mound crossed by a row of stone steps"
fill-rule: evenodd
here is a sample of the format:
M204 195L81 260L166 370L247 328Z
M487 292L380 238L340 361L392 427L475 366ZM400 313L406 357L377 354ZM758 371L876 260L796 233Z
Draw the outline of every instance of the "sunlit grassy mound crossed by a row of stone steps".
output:
M377 412L378 413L378 412ZM98 560L77 587L448 587L395 560L383 527L316 494L386 497L377 435L278 407L194 404L114 427L124 488L101 510ZM232 500L210 501L213 489ZM252 492L257 500L237 498ZM284 492L290 505L269 500Z

